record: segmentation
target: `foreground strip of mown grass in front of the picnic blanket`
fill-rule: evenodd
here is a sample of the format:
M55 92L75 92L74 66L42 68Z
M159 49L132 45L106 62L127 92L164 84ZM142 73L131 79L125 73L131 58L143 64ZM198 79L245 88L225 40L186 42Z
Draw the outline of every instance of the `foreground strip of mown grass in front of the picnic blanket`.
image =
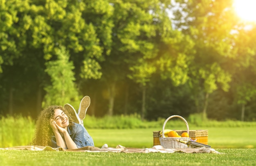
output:
M3 166L255 166L256 149L216 149L222 154L82 153L0 150Z

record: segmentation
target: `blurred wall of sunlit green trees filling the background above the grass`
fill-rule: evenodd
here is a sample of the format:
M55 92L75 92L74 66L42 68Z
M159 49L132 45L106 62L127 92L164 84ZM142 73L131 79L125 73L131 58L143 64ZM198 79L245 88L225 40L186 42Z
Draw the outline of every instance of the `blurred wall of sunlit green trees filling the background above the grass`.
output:
M234 0L0 0L0 115L255 121L255 39Z

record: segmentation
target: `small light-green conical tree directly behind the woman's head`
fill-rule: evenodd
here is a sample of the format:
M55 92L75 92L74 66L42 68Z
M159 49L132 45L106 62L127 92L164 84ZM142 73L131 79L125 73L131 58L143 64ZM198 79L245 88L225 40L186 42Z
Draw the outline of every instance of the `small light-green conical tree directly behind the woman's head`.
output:
M56 61L48 61L46 65L47 74L51 77L52 85L45 87L46 95L43 106L64 105L64 103L78 103L81 96L78 95L74 83L73 63L69 62L69 53L64 46L56 50Z

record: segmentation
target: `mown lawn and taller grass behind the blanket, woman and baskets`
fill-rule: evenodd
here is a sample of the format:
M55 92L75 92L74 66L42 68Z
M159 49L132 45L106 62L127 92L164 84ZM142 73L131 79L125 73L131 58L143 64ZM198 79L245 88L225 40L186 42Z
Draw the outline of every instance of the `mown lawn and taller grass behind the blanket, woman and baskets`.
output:
M102 119L92 117L85 119L85 127L94 139L95 146L101 147L108 144L115 147L118 144L126 147L150 148L153 146L153 131L162 130L165 119L153 122L138 121L136 116L122 117L121 120L113 117L115 123L111 123L110 117L105 117L105 128L92 128L90 124L100 123ZM90 120L89 120L90 119ZM117 126L119 126L118 128ZM142 125L143 124L143 125ZM189 123L190 124L190 123ZM209 130L208 143L213 148L256 148L255 122L238 121L208 121L207 123L191 123L190 130ZM133 126L134 125L134 126ZM130 128L129 128L130 126ZM107 128L108 127L108 128ZM166 129L186 130L186 126L181 120L171 120L166 123ZM35 122L30 117L1 117L0 119L0 148L12 146L29 145L34 136Z

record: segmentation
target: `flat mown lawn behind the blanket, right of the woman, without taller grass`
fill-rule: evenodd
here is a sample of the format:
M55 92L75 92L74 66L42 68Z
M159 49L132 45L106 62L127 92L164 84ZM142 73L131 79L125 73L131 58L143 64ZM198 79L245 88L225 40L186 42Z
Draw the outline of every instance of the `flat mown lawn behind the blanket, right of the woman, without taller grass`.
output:
M191 130L205 128L192 128ZM151 148L153 146L153 131L159 128L146 129L88 129L94 139L94 144L100 147L122 145L134 148ZM176 130L184 130L177 128ZM208 144L212 148L256 148L256 132L254 127L247 128L207 128Z

